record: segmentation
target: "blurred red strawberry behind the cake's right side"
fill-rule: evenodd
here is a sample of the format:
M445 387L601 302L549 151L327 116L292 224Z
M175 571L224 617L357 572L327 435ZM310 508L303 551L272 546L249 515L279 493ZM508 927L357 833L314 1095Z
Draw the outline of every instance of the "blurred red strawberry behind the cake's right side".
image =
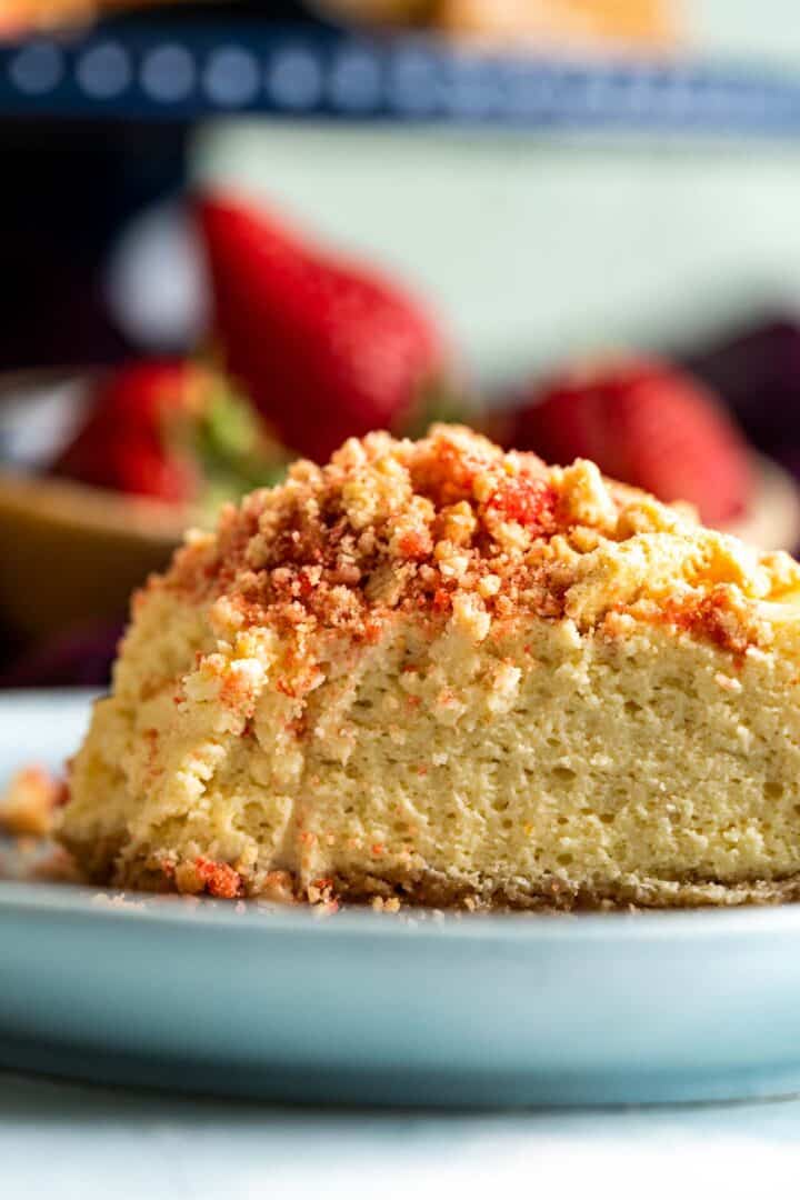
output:
M509 418L506 443L552 462L591 458L662 500L690 500L709 524L746 508L746 443L716 397L663 362L628 359L553 379Z

